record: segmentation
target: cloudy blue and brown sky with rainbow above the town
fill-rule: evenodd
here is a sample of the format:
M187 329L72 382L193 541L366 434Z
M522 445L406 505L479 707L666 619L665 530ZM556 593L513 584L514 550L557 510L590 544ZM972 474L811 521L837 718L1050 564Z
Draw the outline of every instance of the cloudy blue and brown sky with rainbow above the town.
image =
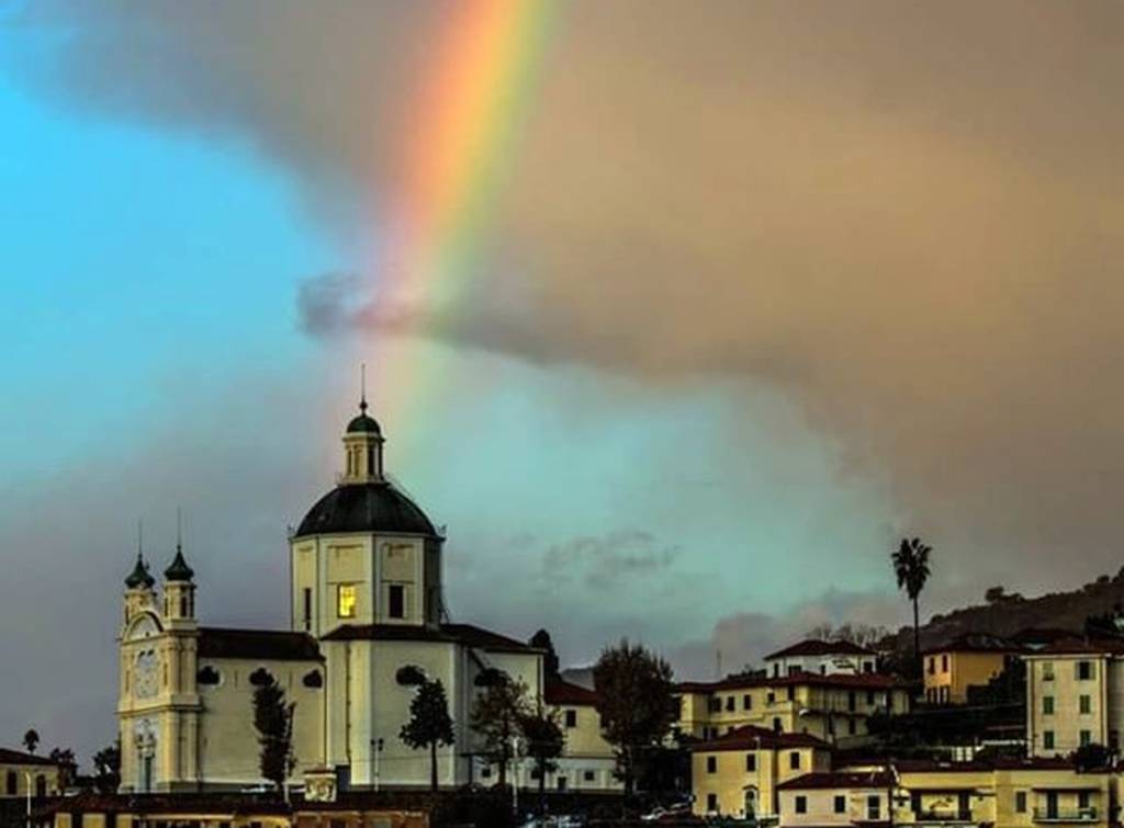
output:
M281 627L360 364L460 621L685 677L1121 566L1124 7L0 0L0 744ZM719 656L720 654L720 656Z

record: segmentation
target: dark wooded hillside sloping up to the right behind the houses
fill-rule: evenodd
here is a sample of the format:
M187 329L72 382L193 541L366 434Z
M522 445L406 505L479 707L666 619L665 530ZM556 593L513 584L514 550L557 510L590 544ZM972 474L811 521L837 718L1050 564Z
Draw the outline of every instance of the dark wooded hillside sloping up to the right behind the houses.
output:
M1080 631L1085 619L1124 604L1124 568L1115 577L1102 575L1071 592L1051 592L1037 598L1017 593L991 595L994 600L933 616L921 629L922 647L937 646L966 633L1012 636L1027 628ZM891 636L897 647L913 646L913 628ZM889 644L889 642L887 642Z

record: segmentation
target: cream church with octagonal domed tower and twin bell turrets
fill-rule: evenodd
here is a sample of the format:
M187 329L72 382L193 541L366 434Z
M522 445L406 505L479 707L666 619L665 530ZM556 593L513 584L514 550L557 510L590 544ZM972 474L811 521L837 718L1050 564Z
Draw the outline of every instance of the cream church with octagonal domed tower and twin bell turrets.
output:
M384 474L383 445L364 398L343 436L338 484L290 536L287 630L202 626L183 549L176 546L158 592L138 553L125 581L119 637L123 793L262 784L252 707L261 671L296 703L297 784L306 774L325 773L342 789L428 784L428 752L399 738L415 692L397 680L407 665L445 686L456 740L438 750L443 788L495 779L469 727L482 672L522 680L533 700L579 704L546 681L543 650L448 620L442 604L444 534ZM584 703L588 719L591 707ZM568 727L579 720L577 707L558 709ZM590 747L590 735L583 735L575 743L584 744L583 754L568 755L558 773L583 783L572 788L616 788L611 752L592 727L596 744ZM566 780L552 783L562 788Z

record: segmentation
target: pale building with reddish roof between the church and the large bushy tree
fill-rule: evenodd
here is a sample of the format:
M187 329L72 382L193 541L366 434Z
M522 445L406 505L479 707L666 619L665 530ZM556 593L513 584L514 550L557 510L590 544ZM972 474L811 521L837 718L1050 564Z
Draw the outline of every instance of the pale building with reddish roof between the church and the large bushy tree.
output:
M563 681L558 676L546 680L544 698L558 715L559 726L565 738L558 766L546 776L546 785L556 791L619 791L616 779L616 754L601 735L601 717L597 712L597 693L587 688ZM527 763L531 764L531 763ZM528 784L534 785L533 775Z

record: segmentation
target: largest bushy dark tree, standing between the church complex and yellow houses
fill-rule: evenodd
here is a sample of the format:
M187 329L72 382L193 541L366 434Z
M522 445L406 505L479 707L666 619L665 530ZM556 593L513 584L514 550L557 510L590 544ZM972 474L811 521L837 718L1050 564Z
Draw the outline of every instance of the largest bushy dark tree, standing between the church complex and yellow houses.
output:
M625 797L633 793L637 762L660 746L678 716L671 666L623 638L607 647L593 666L601 731L617 755Z

